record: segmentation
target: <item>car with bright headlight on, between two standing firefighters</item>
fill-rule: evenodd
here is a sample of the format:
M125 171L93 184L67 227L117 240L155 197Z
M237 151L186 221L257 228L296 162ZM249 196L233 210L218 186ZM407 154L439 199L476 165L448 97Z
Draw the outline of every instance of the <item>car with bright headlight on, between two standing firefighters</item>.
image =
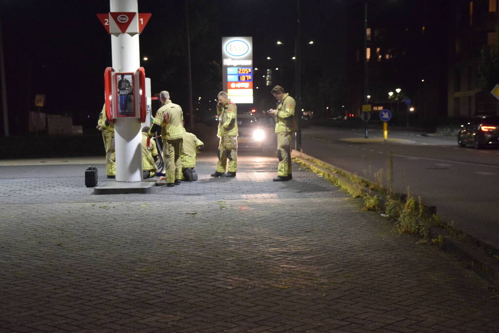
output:
M266 144L267 131L258 125L258 121L252 114L238 115L238 148L250 148L260 151Z

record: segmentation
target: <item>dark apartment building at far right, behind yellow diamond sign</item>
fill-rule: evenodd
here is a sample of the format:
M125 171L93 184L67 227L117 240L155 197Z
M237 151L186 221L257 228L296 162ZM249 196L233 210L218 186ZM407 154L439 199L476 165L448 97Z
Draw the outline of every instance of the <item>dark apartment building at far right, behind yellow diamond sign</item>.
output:
M499 77L484 77L493 71L487 64L484 64L483 73L479 68L482 52L490 52L497 44L498 2L450 1L447 114L451 118L497 113L498 100L490 92L499 84Z

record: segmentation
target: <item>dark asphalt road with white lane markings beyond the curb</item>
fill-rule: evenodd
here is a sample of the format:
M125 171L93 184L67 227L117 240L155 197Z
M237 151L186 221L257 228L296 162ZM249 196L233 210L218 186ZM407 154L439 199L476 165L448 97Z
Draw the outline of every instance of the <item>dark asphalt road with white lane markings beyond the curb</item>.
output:
M404 131L304 129L303 152L333 166L388 186L393 154L393 188L421 196L445 221L499 247L499 150L459 148L457 141Z

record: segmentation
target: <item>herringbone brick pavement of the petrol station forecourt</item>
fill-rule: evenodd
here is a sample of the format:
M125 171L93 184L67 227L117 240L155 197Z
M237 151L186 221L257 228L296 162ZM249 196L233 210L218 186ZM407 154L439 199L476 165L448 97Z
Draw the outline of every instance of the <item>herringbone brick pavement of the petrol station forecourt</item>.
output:
M486 282L324 179L272 182L276 161L245 155L211 178L215 162L100 196L84 164L0 166L0 331L499 331Z

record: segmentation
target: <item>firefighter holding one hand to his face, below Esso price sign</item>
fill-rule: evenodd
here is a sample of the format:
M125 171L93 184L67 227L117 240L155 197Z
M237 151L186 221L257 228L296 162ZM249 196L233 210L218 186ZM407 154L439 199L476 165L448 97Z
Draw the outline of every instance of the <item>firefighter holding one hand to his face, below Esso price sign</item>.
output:
M220 138L219 161L217 170L212 173L212 177L235 177L238 171L238 108L229 99L225 91L219 92L218 99L219 126L217 137ZM226 172L227 160L229 160L229 166Z

